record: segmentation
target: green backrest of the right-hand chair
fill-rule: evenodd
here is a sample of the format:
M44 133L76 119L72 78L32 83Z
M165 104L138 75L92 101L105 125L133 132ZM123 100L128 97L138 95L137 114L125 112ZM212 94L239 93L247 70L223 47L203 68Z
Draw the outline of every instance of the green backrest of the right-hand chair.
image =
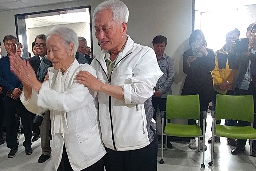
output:
M254 122L253 96L228 96L217 94L215 119L233 119Z

